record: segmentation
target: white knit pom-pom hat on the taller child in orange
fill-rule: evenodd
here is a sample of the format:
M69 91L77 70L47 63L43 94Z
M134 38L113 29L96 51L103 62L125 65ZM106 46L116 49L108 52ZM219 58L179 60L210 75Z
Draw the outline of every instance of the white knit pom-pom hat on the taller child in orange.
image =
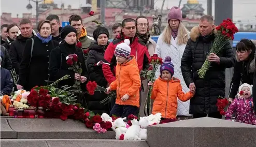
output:
M130 40L124 39L124 42L117 45L114 54L124 58L129 58L131 54L131 47L129 45L130 45Z

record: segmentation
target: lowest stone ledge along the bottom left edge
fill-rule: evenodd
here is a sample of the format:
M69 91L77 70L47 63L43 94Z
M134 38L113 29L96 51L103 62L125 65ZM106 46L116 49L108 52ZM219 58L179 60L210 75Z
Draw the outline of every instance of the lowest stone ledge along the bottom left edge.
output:
M104 146L104 147L112 147L112 146L122 146L122 147L149 147L146 141L124 141L124 140L42 140L42 139L2 139L1 146L3 147L95 147L95 146Z

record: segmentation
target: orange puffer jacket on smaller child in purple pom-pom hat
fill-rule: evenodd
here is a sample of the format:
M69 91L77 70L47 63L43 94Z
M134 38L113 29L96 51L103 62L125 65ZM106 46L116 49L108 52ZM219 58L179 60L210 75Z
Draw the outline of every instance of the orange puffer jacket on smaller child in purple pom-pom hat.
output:
M159 77L153 84L151 99L154 99L152 113L161 113L163 118L175 119L177 113L177 97L187 101L194 96L193 93L183 93L180 80L172 78L169 81Z

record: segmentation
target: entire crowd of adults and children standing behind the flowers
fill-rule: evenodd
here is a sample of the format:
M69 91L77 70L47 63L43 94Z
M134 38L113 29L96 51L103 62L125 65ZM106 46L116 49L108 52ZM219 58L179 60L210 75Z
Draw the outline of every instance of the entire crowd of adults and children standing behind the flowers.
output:
M199 25L190 32L182 23L180 8L171 8L167 20L168 25L157 43L150 37L145 16L115 23L111 42L110 33L103 26L98 26L93 36L89 36L77 14L69 17L69 25L65 27L60 26L58 16L51 14L38 22L38 33L29 19L2 25L1 94L10 95L13 90L21 89L30 91L36 85L47 85L69 75L70 79L58 86L73 86L79 81L81 90L86 92L87 82L95 81L106 88L105 93L97 91L84 96L88 109L95 113L137 115L139 109L143 109L141 104L145 102L149 86L153 86L153 114L160 112L164 119L186 120L207 115L221 119L217 99L225 97L225 69L234 67L229 94L231 105L225 117L231 120L235 112L236 121L256 125L255 100L252 99L256 93L256 86L252 86L256 84L256 41L240 40L236 53L230 42L226 42L221 52L208 55L215 40L216 25L211 16L201 17ZM66 57L70 54L77 55L81 74L69 69ZM140 77L140 72L150 67L153 54L164 60L154 83ZM198 69L206 58L211 66L202 79L198 77ZM103 64L97 66L100 61ZM17 83L13 83L10 70L19 76ZM240 83L243 85L239 87ZM117 96L108 105L101 104L110 91L115 91Z

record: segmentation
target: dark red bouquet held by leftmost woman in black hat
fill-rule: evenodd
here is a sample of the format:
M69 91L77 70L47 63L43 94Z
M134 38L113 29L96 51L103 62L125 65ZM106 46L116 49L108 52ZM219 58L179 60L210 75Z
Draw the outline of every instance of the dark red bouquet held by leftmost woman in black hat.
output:
M67 65L71 66L68 69L73 70L75 73L81 75L82 74L82 68L81 64L78 63L78 56L77 54L70 54L66 57ZM73 87L80 89L80 80L75 80L75 84Z

